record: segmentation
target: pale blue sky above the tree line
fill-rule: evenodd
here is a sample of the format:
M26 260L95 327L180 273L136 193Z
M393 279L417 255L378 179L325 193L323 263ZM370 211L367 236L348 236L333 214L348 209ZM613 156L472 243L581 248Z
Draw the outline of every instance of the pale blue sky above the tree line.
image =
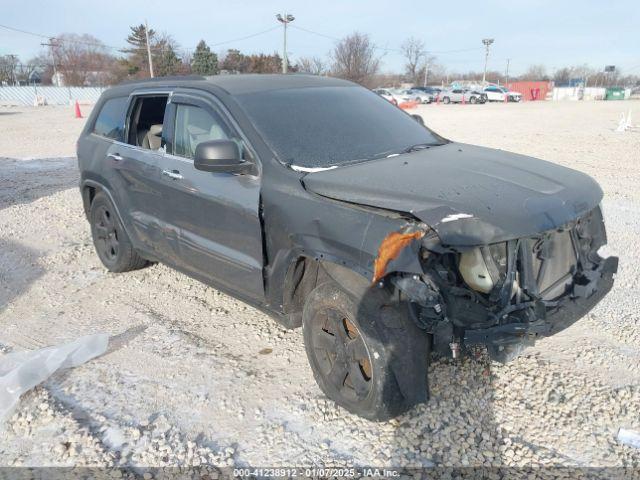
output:
M358 31L378 47L385 72L403 70L398 49L413 36L449 72L481 71L482 39L494 38L489 70L504 72L510 59L512 75L532 64L544 64L551 73L585 63L640 74L640 0L0 0L0 25L45 36L89 33L117 53L129 26L146 20L183 49L204 39L215 52L268 53L282 51L279 12L295 16L287 48L293 62L326 57L336 39ZM0 55L24 61L43 50L43 41L0 27Z

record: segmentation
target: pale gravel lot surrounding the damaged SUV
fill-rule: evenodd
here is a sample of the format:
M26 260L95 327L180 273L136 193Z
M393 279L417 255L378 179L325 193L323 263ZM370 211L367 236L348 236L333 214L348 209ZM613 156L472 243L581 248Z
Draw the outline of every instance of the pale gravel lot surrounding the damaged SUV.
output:
M299 330L162 265L108 273L76 187L84 121L0 108L0 352L113 336L23 397L0 465L639 467L615 439L640 431L640 133L614 132L629 106L418 108L448 138L595 177L620 271L588 317L508 365L435 362L430 403L386 423L324 398Z

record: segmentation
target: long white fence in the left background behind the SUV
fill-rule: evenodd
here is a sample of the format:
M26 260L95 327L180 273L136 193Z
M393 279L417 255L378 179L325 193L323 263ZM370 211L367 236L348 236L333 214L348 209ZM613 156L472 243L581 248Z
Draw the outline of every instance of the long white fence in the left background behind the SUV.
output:
M34 105L36 97L44 98L47 105L69 105L95 103L104 88L100 87L3 87L0 86L0 104Z

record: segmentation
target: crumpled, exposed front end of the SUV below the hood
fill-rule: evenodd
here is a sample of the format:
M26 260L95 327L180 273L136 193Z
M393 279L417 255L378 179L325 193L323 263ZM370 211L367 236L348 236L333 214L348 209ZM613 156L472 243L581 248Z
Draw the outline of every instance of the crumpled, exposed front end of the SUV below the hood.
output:
M508 360L583 317L611 290L618 268L617 257L598 254L606 243L600 207L561 228L476 247L443 246L433 231L404 234L413 241L407 258L419 241L423 273L393 265L385 281L408 298L434 348L454 356L463 345L483 344Z

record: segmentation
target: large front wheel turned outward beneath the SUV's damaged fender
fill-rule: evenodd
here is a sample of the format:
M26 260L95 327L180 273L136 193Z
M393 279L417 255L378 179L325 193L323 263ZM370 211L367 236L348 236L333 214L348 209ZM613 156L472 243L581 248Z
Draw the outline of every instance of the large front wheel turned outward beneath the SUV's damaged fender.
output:
M384 292L373 287L358 298L328 281L311 292L302 315L320 389L348 411L376 421L428 399L431 351L430 336Z

